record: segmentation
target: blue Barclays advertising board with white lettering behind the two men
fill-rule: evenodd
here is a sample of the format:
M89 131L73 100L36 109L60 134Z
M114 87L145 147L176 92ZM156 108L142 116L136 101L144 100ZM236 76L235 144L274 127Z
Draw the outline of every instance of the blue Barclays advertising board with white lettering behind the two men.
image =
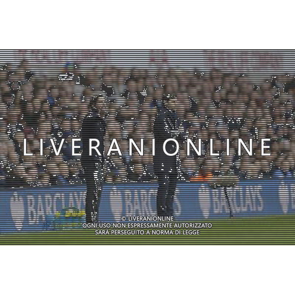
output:
M295 213L295 180L241 181L228 188L235 217ZM122 216L156 215L156 183L106 184L99 221L120 222ZM84 222L85 186L0 190L0 233L45 231L60 215ZM179 183L174 202L175 220L228 218L223 188L206 183Z

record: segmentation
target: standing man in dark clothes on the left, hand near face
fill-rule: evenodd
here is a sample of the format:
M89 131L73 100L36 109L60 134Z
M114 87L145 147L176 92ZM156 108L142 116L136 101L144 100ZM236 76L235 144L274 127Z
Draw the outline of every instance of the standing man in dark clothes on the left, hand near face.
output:
M106 133L106 121L104 119L104 98L93 96L89 103L89 113L83 119L81 129L82 157L81 164L86 179L86 222L97 222L98 207L101 198L104 169L104 137ZM99 140L98 151L100 155L91 149L89 152L89 139ZM91 146L96 146L92 143Z

